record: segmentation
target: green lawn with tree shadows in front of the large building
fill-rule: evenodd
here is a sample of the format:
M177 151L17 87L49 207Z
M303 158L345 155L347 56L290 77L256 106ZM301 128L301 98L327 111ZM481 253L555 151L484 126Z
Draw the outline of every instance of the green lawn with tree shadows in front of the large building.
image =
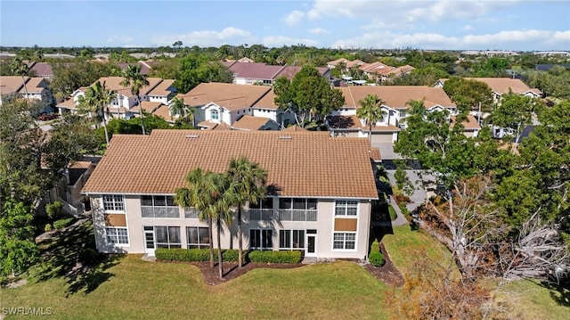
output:
M57 239L64 249L35 268L28 284L0 289L0 313L20 307L51 308L56 319L387 318L387 286L352 262L255 269L209 286L197 267L143 261L142 255L109 256L79 274L79 238Z

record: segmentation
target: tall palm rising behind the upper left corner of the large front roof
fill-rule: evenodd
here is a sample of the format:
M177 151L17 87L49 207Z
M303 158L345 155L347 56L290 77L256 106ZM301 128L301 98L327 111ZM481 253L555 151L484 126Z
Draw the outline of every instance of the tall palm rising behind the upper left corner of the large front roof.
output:
M97 116L102 117L103 129L105 130L105 140L109 145L109 132L107 131L107 119L105 119L105 111L109 108L113 99L117 98L117 92L109 90L105 85L105 81L95 82L93 86L89 86L85 91L85 95L79 96L79 107L94 112Z

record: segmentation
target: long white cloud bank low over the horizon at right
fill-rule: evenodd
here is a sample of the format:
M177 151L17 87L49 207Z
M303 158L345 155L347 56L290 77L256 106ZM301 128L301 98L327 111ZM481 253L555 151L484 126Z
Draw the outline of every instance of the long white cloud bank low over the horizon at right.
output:
M331 47L345 48L402 48L464 50L505 49L542 50L565 48L570 44L570 30L550 31L536 29L503 30L493 34L449 37L439 33L393 33L371 31L357 37L339 39ZM520 50L520 49L519 49Z

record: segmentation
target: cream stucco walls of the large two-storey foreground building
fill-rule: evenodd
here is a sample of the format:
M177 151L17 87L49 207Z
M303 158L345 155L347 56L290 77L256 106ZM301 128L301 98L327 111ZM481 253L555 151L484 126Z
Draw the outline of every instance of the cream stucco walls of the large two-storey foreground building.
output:
M125 196L126 226L128 228L128 245L108 245L105 241L105 222L104 212L102 210L102 196L91 194L92 210L94 217L95 240L98 250L102 252L125 252L125 253L144 253L144 232L143 226L180 226L180 237L182 247L187 244L186 226L208 226L206 223L200 222L199 219L185 218L183 209L180 209L179 218L145 218L142 217L141 201L138 195ZM273 208L279 206L278 198L273 201ZM317 221L279 221L273 219L271 221L249 221L248 212L243 213L243 248L248 249L249 230L251 229L272 229L273 230L273 250L279 250L279 231L283 229L316 229L316 257L319 259L329 258L366 258L368 255L368 240L370 233L370 201L362 200L359 202L358 214L354 218L356 220L356 244L354 250L333 250L333 233L335 228L335 201L332 199L320 199L318 202ZM120 214L113 212L115 215ZM237 223L234 215L232 226L228 228L224 226L221 242L224 249L237 249ZM213 243L217 247L216 242L216 226L214 226ZM306 235L305 235L306 236ZM306 245L306 243L305 243Z

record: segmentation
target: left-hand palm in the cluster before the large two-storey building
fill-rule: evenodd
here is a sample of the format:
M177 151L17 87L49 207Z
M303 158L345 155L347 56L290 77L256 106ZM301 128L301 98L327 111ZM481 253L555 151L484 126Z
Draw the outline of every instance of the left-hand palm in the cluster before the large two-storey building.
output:
M199 220L208 222L208 237L210 239L210 267L214 267L213 222L218 217L218 201L222 198L219 177L212 171L202 168L191 170L186 176L189 187L178 188L175 192L175 203L185 209L193 208L199 211ZM219 242L218 242L219 246Z

